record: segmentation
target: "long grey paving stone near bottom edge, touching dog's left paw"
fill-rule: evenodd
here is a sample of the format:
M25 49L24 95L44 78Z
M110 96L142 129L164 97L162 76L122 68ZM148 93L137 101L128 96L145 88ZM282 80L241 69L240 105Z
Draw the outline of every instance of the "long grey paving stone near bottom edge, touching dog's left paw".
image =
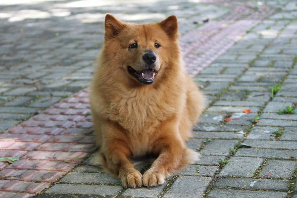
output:
M45 193L79 194L79 195L107 195L115 196L122 190L120 186L55 184Z

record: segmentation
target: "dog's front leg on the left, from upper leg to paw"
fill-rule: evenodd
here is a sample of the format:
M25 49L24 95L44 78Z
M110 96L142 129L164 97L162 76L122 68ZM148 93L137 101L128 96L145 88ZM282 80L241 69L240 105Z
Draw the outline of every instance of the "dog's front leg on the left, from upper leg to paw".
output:
M131 150L125 132L115 123L103 124L105 131L102 144L102 152L106 158L106 166L121 179L123 187L141 187L142 174L136 170L129 161Z

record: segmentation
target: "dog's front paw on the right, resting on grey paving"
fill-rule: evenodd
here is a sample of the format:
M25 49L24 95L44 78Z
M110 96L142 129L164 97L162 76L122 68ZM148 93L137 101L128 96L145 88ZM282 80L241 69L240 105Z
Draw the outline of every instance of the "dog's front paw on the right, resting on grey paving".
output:
M143 184L144 186L151 187L163 184L165 182L165 175L161 174L158 171L148 170L143 175Z

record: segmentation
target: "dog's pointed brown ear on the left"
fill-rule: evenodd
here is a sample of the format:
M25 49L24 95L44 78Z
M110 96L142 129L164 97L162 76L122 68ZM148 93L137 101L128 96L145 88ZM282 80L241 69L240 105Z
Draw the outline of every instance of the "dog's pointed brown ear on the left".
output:
M105 34L104 38L114 38L124 27L124 24L115 18L112 14L106 14L105 20L104 20L104 29Z

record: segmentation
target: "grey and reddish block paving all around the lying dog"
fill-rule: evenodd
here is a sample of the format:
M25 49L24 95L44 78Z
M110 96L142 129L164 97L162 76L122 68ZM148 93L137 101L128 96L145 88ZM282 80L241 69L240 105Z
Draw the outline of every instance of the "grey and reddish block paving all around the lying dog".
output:
M188 143L201 160L155 188L123 189L89 164L87 87L106 12L177 15L207 96ZM0 197L297 198L296 19L294 0L1 1L0 157L17 158L0 162Z

